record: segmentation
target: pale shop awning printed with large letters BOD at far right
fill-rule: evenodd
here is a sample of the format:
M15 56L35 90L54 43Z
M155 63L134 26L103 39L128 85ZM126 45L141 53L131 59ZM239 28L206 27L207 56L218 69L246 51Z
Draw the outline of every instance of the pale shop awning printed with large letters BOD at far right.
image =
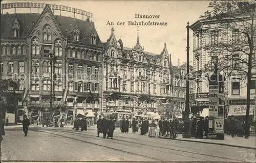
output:
M250 105L249 115L253 115L253 110L255 107ZM246 105L229 105L229 110L227 116L245 116L246 115Z

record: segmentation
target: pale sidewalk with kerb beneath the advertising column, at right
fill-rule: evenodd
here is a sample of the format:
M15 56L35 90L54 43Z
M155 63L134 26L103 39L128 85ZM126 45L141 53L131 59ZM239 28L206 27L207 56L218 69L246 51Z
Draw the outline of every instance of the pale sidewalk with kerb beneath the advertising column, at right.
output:
M158 136L159 138L165 138L163 136ZM256 149L255 144L255 136L250 136L248 139L244 137L231 137L229 135L225 135L224 140L217 139L200 139L200 138L182 138L182 134L179 134L175 139L176 141L186 141L186 142L196 142L196 143L205 143L205 144L216 144L221 146L230 146L230 147L239 147L239 148L247 148L247 149Z

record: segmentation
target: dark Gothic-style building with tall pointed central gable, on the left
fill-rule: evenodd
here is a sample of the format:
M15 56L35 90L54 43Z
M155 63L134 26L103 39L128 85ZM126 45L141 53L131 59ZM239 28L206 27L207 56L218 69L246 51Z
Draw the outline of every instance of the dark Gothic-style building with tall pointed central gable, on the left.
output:
M1 14L1 104L10 123L27 113L27 97L50 99L51 89L56 101L67 102L66 117L84 109L95 117L101 110L102 46L94 22L54 15L50 6L59 5L44 4L40 14ZM58 115L59 110L48 114Z

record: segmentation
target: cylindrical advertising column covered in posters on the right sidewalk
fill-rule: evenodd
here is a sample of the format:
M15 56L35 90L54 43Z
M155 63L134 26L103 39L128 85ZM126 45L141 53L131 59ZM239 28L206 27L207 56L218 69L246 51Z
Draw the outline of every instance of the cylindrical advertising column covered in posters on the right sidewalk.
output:
M224 83L222 75L209 78L209 133L208 137L224 139Z

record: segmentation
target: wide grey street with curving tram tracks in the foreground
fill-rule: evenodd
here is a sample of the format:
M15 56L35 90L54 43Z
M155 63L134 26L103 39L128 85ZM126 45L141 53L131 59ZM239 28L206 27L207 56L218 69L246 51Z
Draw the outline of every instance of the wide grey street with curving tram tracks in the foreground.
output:
M9 128L1 143L5 161L254 161L255 150L120 133L114 139L72 128Z

